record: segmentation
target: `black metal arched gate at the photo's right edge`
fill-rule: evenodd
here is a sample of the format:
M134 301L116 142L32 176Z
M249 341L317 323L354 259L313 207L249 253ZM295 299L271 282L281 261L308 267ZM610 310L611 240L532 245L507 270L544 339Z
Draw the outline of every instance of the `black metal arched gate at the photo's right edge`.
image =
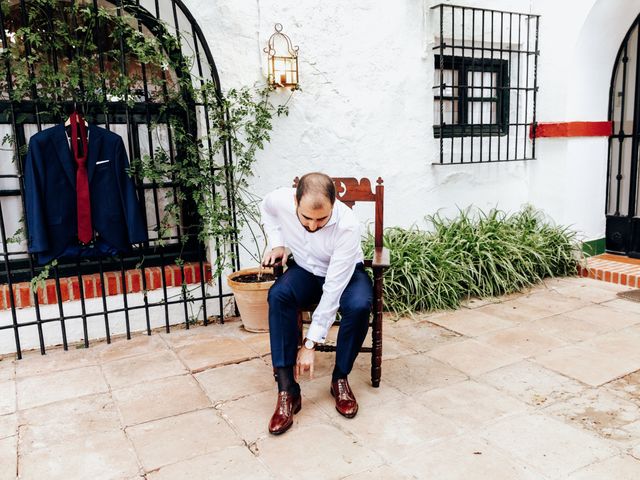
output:
M609 91L606 250L640 257L638 154L640 147L640 16L627 32L616 57Z

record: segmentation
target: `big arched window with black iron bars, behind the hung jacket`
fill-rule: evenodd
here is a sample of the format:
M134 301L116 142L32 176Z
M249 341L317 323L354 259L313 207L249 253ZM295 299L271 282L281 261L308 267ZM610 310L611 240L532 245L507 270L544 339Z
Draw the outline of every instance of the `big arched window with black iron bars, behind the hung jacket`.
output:
M193 138L206 138L212 130L207 104L180 91L180 82L185 78L195 79L190 81L202 85L207 80L213 81L214 94L221 97L209 47L197 22L180 0L12 0L0 4L0 63L4 66L0 79L0 139L4 138L0 149L0 354L6 353L11 343L18 358L24 348L39 347L44 354L45 345L62 344L67 349L70 342L81 340L88 347L89 338L104 338L107 342L115 334L126 334L130 338L134 329L151 334L152 328L161 326L169 332L171 325L180 321L186 328L196 319L206 325L211 315L223 321L224 302L231 296L223 291L219 276L214 288L207 285L206 248L198 239L201 219L183 187L171 177L136 178L149 241L136 246L133 252L83 261L60 259L49 267L39 266L28 253L23 172L29 138L63 122L78 108L77 102L65 96L60 88L51 93L56 96L58 107L51 109L51 96L43 98L38 79L39 72L46 72L51 78L58 75L58 85L62 85L62 67L68 65L69 55L74 54L73 49L66 52L57 48L56 22L77 25L83 20L61 14L69 11L58 9L61 5L76 5L101 18L93 29L75 29L93 36L96 50L90 52L93 63L87 68L96 69L100 74L96 78L102 78L102 84L84 84L87 91L94 94L94 100L83 102L83 113L90 123L119 134L129 159L147 156L154 161L162 151L167 157L163 161L173 163L183 153L172 124L176 120ZM117 12L119 17L126 15L135 34L157 38L171 59L170 64L178 67L169 67L169 63L160 66L147 63L143 59L145 52L132 50L131 44L119 40L114 30L117 24L109 23L98 14L103 7ZM37 9L41 11L38 13ZM36 18L44 20L36 23ZM35 45L31 40L24 40L25 28L41 36L38 38L53 40ZM178 41L163 43L169 37ZM22 57L12 63L7 51L16 45ZM34 48L39 49L44 59L37 65L29 63ZM17 72L26 75L21 82ZM121 92L111 91L107 95L112 73L128 77L131 82ZM82 77L83 72L78 74ZM20 98L16 95L18 84L28 86ZM105 98L95 101L101 92ZM174 101L187 108L176 113L172 109ZM231 161L229 152L230 146L223 149L220 169ZM211 188L215 194L216 187ZM232 205L228 195L226 202ZM176 208L175 205L180 208L180 222L163 223L165 213ZM222 246L215 241L212 245L215 255L215 249ZM40 291L29 295L18 288L42 274L45 268L49 269L47 282L54 282L45 287L46 295L55 299L48 302L51 305L46 308ZM130 275L134 271L136 275ZM187 280L191 280L188 286ZM112 281L121 290L115 301L113 297L108 298ZM132 286L133 282L139 285ZM70 306L65 301L68 299L65 292L71 292L72 288L77 292L70 294L79 300L80 306L78 302L71 302L75 305ZM155 292L149 293L154 288ZM93 292L91 296L89 289ZM132 291L139 294L132 296ZM27 299L31 297L32 308L27 315L17 308L21 305L21 294ZM94 300L89 301L92 297ZM2 308L7 310L1 311Z

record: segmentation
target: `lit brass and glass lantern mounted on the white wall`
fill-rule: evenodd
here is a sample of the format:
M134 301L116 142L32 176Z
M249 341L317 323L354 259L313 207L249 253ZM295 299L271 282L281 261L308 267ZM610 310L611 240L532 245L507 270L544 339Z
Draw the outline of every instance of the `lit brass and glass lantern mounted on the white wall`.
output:
M269 37L264 48L269 68L268 82L272 87L298 88L298 47L291 45L291 39L282 33L282 25L276 23L276 32Z

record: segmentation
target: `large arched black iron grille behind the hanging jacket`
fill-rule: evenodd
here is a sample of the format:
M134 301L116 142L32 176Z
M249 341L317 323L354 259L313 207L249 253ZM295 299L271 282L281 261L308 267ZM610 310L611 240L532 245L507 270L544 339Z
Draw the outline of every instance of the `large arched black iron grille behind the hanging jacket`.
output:
M63 1L60 0L60 2ZM73 0L66 1L69 4L74 3ZM16 41L19 29L31 21L29 7L32 3L26 0L2 1L0 36L3 53L11 47L12 42ZM42 1L39 3L46 4ZM99 7L106 6L114 8L119 14L125 12L135 19L137 23L135 28L141 35L159 35L170 31L177 38L185 38L184 42L178 43L176 51L169 54L186 56L188 53L193 61L188 65L185 63L185 68L190 70L194 78L213 80L217 94L220 95L219 78L211 52L195 19L180 0L76 0L75 3L96 11ZM99 33L103 34L99 38L110 38L109 32L97 32ZM104 40L104 42L97 42L97 45L100 49L113 47L107 43L108 40ZM40 48L47 47L40 46ZM102 51L98 52L100 61L95 68L101 71L108 68L127 69L125 57L128 52L125 52L122 42L120 49L121 59L113 64L103 61ZM29 53L29 46L26 45L24 54L28 56ZM1 59L2 57L0 61ZM60 59L54 56L50 67L57 68L58 61ZM119 65L116 65L117 63ZM131 254L115 257L97 257L83 261L60 259L57 265L50 268L48 275L49 279L52 279L50 281L54 281L51 288L52 292L55 290L55 294L52 293L52 295L55 296L56 302L45 308L41 304L42 297L36 292L31 294L32 306L29 309L17 308L20 304L17 297L21 294L17 286L43 272L43 267L39 266L34 256L27 252L28 232L25 232L26 222L24 222L23 179L26 146L33 134L63 122L64 115L76 109L77 104L69 99L62 99L60 112L64 112L64 115L60 112L51 114L46 111L43 107L44 100L38 97L38 79L33 71L29 73L33 76L31 78L33 88L29 95L16 101L15 95L12 95L12 88L15 88L15 75L10 70L11 65L8 60L7 69L4 88L0 92L0 138L5 137L5 144L0 150L0 237L2 240L0 288L6 292L4 320L0 316L0 353L3 352L3 342L6 345L8 338L15 346L18 358L22 356L24 348L34 346L39 346L43 354L45 346L54 343L61 343L67 349L69 343L74 341L73 338L69 338L69 328L72 323L77 325L77 328L81 328L81 339L85 347L89 346L89 338L103 337L110 342L112 335L116 332L122 332L130 338L132 330L140 328L140 323L137 324L138 327L132 326L130 317L134 315L133 312L137 312L138 319L144 318L143 330L147 334L151 334L158 322L168 332L171 325L177 323L176 306L180 310L180 323L183 323L186 328L189 328L196 317L202 319L205 325L212 314L223 321L224 300L229 294L223 292L219 277L214 279L213 291L206 282L208 266L206 249L197 236L200 219L193 213L195 209L187 200L178 202L179 198L183 198L180 195L181 187L172 178L136 179L138 196L146 212L145 220L149 233L147 243L134 248ZM127 73L131 72L127 70ZM148 155L153 160L154 151L159 144L163 144L162 146L171 157L169 160L173 161L174 156L181 154L180 145L174 138L170 124L163 122L163 111L166 105L162 101L152 100L150 91L158 88L153 83L154 75L161 76L165 83L169 77L177 82L185 72L146 68L141 62L139 71L136 73L141 81L131 85L128 92L129 99L134 98L134 101L123 101L121 98L111 97L100 104L87 104L85 117L90 123L120 134L130 159ZM162 94L159 98L162 98ZM203 132L210 130L209 117L206 111L203 112L206 106L199 103L198 99L189 99L189 102L192 114L185 116L185 128L190 135L199 138ZM223 151L224 165L227 165L229 151L228 148ZM212 188L215 187L212 186ZM227 202L230 202L229 198ZM180 223L165 225L161 232L163 213L170 205L176 203L181 204ZM186 265L191 269L189 286L186 284L186 279L189 278L189 271L185 271ZM176 285L177 289L172 289L172 284L167 282L166 275L169 267L180 272L179 278L182 281L179 282L180 285ZM155 280L153 286L148 284L152 278L150 270L160 271L159 279ZM139 289L141 293L135 298L131 297L131 293L127 291L127 285L132 281L129 278L132 271L139 272L138 278L142 283ZM85 289L87 278L92 276L96 278L91 286L95 289L96 300L89 302ZM178 277L177 273L176 277ZM115 278L122 288L122 295L117 302L108 298L111 278ZM198 279L199 281L194 281ZM63 289L67 288L67 282L77 285L79 308L78 302L73 302L75 306L70 308L70 303L64 301L66 298ZM155 298L152 298L149 292L154 287L157 290ZM91 305L88 305L89 303ZM194 308L197 312L195 314ZM33 341L28 342L28 345L24 344L26 335L37 335L35 345Z

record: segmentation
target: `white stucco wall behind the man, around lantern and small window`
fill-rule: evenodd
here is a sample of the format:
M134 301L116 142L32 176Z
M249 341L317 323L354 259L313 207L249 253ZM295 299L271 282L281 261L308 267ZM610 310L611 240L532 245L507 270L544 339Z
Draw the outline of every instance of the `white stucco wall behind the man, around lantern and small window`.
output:
M275 23L300 47L302 91L289 102L290 115L274 121L255 191L264 194L311 170L380 175L387 225L423 224L427 214L469 205L513 211L531 203L585 239L602 238L606 138L538 139L534 161L432 164L439 144L432 133L433 53L425 44L436 32L424 15L436 3L185 1L223 88L263 81L262 49ZM445 3L541 15L537 120L607 120L613 62L640 0Z

